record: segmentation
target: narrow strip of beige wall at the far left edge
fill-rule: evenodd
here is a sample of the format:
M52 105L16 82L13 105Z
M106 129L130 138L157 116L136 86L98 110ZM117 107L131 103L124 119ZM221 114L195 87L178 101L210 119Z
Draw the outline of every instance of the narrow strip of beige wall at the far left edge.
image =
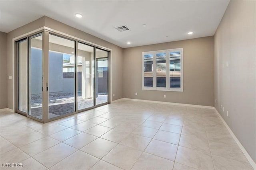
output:
M0 32L0 109L7 108L7 33Z

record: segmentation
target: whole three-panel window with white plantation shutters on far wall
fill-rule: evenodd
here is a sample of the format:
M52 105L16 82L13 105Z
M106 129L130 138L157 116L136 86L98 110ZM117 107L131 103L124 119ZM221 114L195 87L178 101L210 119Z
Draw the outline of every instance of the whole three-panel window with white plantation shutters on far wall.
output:
M182 61L182 48L143 52L142 90L183 92Z

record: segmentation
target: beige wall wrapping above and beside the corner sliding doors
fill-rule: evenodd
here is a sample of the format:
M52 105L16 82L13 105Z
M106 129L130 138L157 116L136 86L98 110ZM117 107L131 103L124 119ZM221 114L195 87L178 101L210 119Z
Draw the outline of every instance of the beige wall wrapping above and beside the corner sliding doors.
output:
M78 29L75 29L73 27L70 27L64 23L61 23L59 21L53 20L48 17L42 17L39 18L36 21L33 21L31 23L28 23L22 27L19 27L11 32L8 33L7 37L7 44L8 44L8 75L13 75L13 44L12 39L15 37L18 37L20 35L23 35L25 33L28 33L30 31L33 31L35 29L41 28L43 26L46 26L51 29L58 30L60 32L72 35L74 37L78 37L80 39L84 39L86 41L90 41L91 43L106 47L108 49L112 49L112 87L113 87L113 93L115 93L115 96L113 97L113 100L117 100L123 97L122 94L122 51L123 49L121 47L118 47L112 43L109 43L107 41L104 41L100 38L94 37L93 35L90 35L88 33L85 33L83 31L80 31ZM8 108L12 109L13 107L13 83L12 80L8 80Z

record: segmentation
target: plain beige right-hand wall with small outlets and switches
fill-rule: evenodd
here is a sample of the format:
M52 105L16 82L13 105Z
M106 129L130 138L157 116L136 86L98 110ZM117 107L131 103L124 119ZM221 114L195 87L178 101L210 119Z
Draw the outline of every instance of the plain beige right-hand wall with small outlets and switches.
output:
M256 1L228 5L214 35L214 89L216 109L256 162Z

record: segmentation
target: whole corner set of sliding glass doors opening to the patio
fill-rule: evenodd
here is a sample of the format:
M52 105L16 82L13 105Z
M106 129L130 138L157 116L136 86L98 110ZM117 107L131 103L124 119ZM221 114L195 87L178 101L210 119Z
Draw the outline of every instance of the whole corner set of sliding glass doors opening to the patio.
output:
M42 31L17 52L18 113L48 122L108 104L108 51Z

